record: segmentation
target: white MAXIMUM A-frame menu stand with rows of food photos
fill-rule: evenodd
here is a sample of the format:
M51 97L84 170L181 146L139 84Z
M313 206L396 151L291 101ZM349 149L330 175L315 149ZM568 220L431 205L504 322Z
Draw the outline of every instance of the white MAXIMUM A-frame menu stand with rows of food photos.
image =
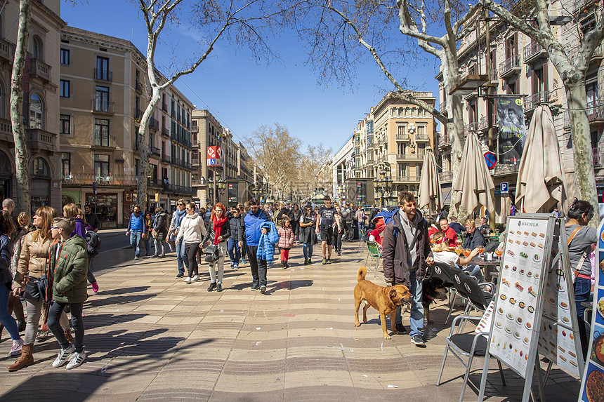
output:
M508 217L478 401L484 399L491 356L525 379L523 402L531 394L534 368L540 401L552 363L577 376L582 373L579 333L572 329L577 328L577 312L563 222L547 214ZM549 360L545 378L539 354Z

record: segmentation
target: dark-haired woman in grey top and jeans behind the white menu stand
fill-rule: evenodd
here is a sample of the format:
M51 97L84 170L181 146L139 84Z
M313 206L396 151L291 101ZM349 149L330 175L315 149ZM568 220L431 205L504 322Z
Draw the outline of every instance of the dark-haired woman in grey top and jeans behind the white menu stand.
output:
M587 226L593 217L593 206L587 201L575 199L568 209L566 222L566 235L570 240L568 243L568 256L570 268L575 279L575 304L577 304L577 316L579 323L579 339L583 349L583 357L586 359L587 347L589 347L589 333L585 328L585 307L582 302L589 300L591 293L591 243L598 241L598 231Z

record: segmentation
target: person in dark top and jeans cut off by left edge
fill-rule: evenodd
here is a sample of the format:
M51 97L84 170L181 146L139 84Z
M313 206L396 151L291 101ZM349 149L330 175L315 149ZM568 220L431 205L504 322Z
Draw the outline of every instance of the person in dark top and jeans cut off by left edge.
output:
M11 338L13 338L13 346L8 356L17 356L21 353L23 347L17 321L8 312L8 295L11 293L11 285L13 284L13 274L11 273L13 244L8 236L11 236L15 229L8 211L3 210L0 213L0 323L6 327Z

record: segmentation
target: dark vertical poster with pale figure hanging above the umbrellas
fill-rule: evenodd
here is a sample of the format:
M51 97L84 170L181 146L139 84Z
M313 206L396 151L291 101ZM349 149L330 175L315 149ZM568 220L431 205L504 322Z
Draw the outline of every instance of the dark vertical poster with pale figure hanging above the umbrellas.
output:
M497 96L495 99L499 120L499 163L518 165L526 140L523 98Z

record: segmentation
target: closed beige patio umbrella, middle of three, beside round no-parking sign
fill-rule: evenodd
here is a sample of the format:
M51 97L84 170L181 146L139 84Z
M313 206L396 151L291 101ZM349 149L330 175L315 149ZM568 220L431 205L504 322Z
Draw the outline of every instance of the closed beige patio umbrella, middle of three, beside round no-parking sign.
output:
M477 206L485 206L489 213L493 213L494 190L480 142L474 133L470 133L461 156L459 174L453 185L453 192L457 192L454 205L457 208L463 206L469 213Z

